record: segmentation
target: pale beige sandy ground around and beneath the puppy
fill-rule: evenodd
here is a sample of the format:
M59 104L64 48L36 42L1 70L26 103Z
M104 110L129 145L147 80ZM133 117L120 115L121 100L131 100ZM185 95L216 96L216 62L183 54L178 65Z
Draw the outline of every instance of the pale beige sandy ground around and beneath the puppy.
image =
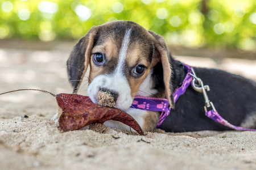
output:
M38 88L70 93L65 61L72 45L52 50L0 48L0 93ZM256 61L177 57L256 80ZM79 94L86 95L86 81ZM50 121L55 98L36 91L0 96L0 169L256 169L256 133L128 131L92 125L63 133ZM26 116L25 116L26 115Z

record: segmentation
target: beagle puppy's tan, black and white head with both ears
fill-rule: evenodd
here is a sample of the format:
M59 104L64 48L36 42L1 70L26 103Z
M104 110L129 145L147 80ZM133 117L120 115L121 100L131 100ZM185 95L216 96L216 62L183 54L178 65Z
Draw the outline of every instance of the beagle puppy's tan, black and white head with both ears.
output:
M110 22L91 28L73 48L67 61L68 78L76 93L90 66L90 99L97 104L98 92L109 91L116 96L115 107L126 110L135 95L157 92L151 76L158 63L162 63L165 94L172 107L171 67L163 37L134 22Z

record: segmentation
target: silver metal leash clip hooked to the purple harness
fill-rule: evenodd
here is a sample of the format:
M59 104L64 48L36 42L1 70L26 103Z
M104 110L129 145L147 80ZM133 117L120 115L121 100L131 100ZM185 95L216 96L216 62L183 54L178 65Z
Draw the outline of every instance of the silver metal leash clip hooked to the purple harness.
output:
M213 111L216 112L216 109L212 103L212 101L209 100L209 97L207 95L207 91L210 91L210 87L208 85L204 85L203 81L196 76L195 70L193 69L193 67L191 68L192 73L189 73L189 75L192 76L193 80L191 82L191 86L193 87L193 89L197 92L203 93L204 96L204 100L205 100L205 106L204 106L204 110L205 112L207 112L207 108L212 107Z

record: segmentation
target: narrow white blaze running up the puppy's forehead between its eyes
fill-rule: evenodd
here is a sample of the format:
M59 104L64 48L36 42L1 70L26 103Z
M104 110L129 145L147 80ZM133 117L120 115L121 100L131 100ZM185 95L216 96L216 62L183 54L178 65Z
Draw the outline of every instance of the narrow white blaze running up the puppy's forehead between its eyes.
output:
M131 35L131 29L128 29L125 32L125 36L123 37L122 46L121 46L121 49L119 52L118 64L117 64L117 68L115 69L116 74L123 72L123 67L125 66L125 58L126 58L126 54L127 54L127 49L128 49L129 42L130 42L130 35Z

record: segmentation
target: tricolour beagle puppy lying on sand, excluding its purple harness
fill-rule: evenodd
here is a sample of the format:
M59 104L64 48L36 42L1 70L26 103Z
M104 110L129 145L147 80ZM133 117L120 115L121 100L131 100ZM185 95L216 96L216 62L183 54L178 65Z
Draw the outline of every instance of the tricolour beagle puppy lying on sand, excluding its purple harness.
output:
M119 20L98 25L79 40L67 61L74 94L88 67L88 96L93 103L98 104L98 91L108 90L116 96L115 107L134 117L144 131L155 130L160 112L130 108L135 95L169 101L171 113L159 127L165 131L230 130L205 116L204 97L191 86L174 104L172 94L187 73L163 37L137 23ZM222 117L234 125L256 128L255 82L221 70L194 69L210 86L209 99ZM117 121L104 124L130 130Z

